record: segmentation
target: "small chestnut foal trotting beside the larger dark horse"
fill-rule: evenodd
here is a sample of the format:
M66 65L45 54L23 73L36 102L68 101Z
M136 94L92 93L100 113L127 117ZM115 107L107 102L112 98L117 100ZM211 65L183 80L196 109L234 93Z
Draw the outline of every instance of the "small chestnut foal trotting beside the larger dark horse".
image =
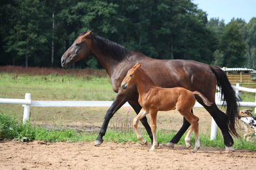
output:
M153 143L151 146L151 151L154 151L158 146L158 141L156 138L156 114L158 111L170 111L175 108L184 116L188 122L191 124L191 129L188 131L185 137L185 145L189 149L191 145L189 144L191 139L191 134L195 131L195 148L193 152L195 153L200 148L199 140L199 118L191 113L191 109L195 105L196 97L200 96L204 101L205 105L212 105L212 103L200 92L191 92L182 87L175 88L161 88L155 86L150 77L141 68L141 63L137 63L130 69L123 79L121 88L126 89L127 86L131 84L136 84L139 92L139 104L142 106L142 111L134 118L133 125L137 134L137 138L144 145L147 145L147 141L144 140L138 131L138 122L146 114L150 113L151 118L151 131L153 134Z

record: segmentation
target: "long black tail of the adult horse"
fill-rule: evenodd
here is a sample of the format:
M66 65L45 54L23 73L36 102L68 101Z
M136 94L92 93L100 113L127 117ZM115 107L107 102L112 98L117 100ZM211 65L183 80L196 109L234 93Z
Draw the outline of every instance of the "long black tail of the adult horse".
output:
M238 97L232 88L228 76L218 66L210 66L217 79L217 86L221 88L221 98L226 101L226 122L229 128L229 133L238 137L236 131L236 119L238 117L239 108L237 105Z

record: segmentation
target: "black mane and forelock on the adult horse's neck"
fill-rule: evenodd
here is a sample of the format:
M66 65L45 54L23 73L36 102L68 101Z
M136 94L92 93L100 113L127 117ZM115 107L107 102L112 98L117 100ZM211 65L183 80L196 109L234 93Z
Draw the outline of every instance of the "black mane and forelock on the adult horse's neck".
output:
M85 35L85 33L86 32L83 32L79 36ZM97 42L98 50L105 56L122 61L129 54L129 50L127 50L124 46L121 46L108 39L104 39L103 37L98 36L96 33L90 33L90 38Z

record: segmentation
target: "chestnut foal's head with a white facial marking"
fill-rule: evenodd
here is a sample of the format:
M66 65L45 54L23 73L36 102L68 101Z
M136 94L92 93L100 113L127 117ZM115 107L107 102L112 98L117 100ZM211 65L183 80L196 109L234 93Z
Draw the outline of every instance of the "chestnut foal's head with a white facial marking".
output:
M125 78L123 79L123 82L121 83L121 88L123 90L125 90L127 88L127 86L130 86L131 84L135 83L136 78L136 74L137 71L139 70L139 68L141 67L141 63L137 63L133 66L133 68L131 68L127 75L125 76Z

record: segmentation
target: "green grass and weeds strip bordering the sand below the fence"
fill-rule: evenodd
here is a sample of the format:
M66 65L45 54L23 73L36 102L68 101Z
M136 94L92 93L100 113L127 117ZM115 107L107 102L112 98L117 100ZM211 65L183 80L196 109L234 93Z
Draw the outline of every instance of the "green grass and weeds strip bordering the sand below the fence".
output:
M142 136L148 142L150 138L148 137L144 129L142 131ZM52 130L47 130L46 128L39 125L32 125L29 122L22 124L16 116L10 116L5 113L0 113L0 138L9 138L14 140L19 140L20 142L29 141L49 141L49 142L82 142L82 141L94 141L97 137L97 133L78 133L72 129L61 129L56 128ZM174 137L174 131L158 130L158 143L168 143L172 137ZM183 145L184 137L180 139L177 145ZM126 142L138 142L137 136L133 130L108 130L105 135L105 141L126 143ZM194 146L195 137L192 135L191 145ZM220 131L217 131L216 139L210 141L210 135L200 134L201 147L217 147L224 148L224 141ZM251 151L256 151L255 142L247 142L241 138L235 139L234 148L236 149L246 149Z

